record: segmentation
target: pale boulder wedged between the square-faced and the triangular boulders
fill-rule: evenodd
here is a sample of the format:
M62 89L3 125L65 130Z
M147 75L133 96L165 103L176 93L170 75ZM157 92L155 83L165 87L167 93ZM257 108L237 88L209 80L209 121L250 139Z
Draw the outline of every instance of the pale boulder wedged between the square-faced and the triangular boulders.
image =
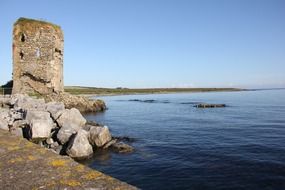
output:
M81 126L76 125L74 123L70 122L63 123L63 126L58 131L56 137L61 144L65 144L69 141L71 135L76 134L80 128Z

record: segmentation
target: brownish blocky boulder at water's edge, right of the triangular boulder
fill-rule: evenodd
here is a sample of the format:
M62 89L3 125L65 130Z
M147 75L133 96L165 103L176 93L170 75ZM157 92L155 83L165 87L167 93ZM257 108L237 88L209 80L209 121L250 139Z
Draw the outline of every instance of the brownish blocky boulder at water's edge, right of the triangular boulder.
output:
M88 140L92 146L102 147L112 139L107 126L91 126L88 133Z

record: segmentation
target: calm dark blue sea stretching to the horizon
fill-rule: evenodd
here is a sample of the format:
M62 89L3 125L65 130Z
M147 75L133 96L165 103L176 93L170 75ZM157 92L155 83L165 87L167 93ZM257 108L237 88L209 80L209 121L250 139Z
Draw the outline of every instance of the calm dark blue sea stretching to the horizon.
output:
M285 189L285 90L102 99L109 109L86 118L136 151L97 153L92 168L142 189Z

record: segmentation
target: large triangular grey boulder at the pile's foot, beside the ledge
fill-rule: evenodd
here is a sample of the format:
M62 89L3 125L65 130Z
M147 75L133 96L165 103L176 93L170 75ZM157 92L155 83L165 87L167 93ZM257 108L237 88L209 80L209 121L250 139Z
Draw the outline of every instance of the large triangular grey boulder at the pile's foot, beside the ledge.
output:
M66 153L75 159L84 159L92 156L93 148L88 141L88 132L80 129L68 143Z

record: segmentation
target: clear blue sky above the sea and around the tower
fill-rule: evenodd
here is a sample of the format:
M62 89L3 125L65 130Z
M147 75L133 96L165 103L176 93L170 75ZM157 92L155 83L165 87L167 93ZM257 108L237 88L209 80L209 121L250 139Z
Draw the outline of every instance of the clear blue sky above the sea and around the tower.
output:
M62 27L65 85L285 87L285 0L1 0L0 84L19 17Z

